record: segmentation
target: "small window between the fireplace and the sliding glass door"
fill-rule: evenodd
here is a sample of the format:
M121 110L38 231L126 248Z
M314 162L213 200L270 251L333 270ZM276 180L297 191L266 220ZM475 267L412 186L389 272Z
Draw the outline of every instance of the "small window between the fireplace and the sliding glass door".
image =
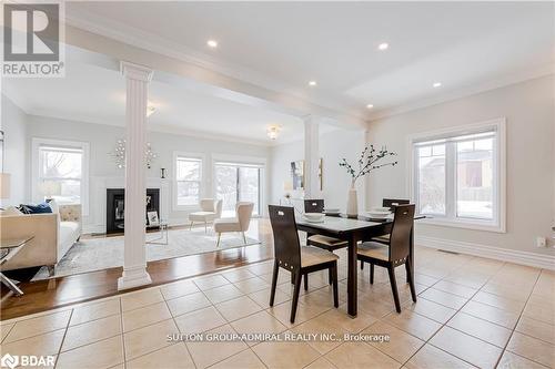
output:
M196 206L201 198L202 160L175 156L176 205Z

